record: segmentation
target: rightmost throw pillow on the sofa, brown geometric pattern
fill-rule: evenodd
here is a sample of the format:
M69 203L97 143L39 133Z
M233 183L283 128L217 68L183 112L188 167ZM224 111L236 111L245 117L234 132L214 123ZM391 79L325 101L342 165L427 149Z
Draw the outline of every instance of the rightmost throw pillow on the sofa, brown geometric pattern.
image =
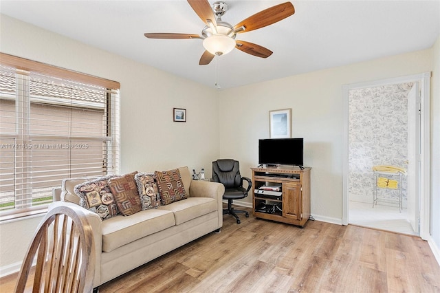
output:
M186 199L184 184L180 179L178 169L170 171L155 171L157 187L159 187L162 204L171 204Z

